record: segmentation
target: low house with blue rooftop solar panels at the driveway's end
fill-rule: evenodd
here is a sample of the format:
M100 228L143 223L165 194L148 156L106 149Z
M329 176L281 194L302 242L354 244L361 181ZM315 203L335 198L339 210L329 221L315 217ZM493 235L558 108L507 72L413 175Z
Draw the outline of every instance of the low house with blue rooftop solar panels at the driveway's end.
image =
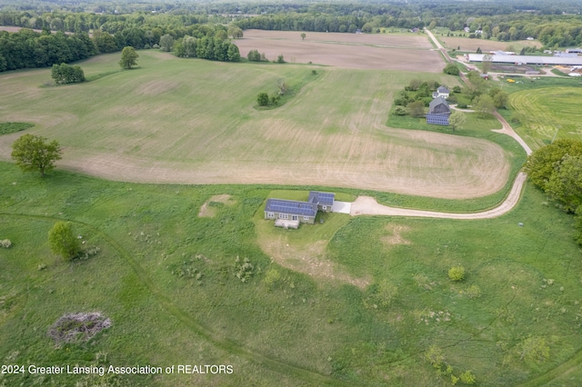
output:
M334 205L335 193L311 191L307 202L286 199L267 199L265 219L274 219L276 226L297 228L299 223L316 223L318 211L329 213Z

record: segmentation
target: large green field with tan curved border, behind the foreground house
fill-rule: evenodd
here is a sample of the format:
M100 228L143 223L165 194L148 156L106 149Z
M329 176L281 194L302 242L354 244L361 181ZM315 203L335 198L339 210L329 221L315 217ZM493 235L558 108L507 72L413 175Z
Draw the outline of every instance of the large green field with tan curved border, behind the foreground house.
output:
M417 51L422 53L422 51ZM225 64L140 51L81 63L92 82L41 87L50 70L0 75L0 120L56 139L70 170L113 180L180 184L321 184L475 198L507 182L504 149L482 139L386 128L393 94L446 74L316 65ZM316 74L312 74L316 70ZM256 109L277 80L303 85L284 106ZM0 154L21 134L0 138ZM491 179L491 176L496 176Z

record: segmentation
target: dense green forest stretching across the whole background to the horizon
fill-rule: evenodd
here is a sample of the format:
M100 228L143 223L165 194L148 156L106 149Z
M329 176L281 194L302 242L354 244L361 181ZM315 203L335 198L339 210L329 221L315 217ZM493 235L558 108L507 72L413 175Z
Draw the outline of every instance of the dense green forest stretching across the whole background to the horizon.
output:
M186 36L206 37L204 45L210 48L198 57L230 60L237 55L227 55L229 48L234 50L228 37L241 35L228 34L229 25L242 30L339 33L360 30L368 34L386 32L387 28L409 30L428 26L444 27L454 35L477 39L509 42L533 37L547 48L579 46L581 11L580 2L549 0L331 4L0 0L0 25L29 29L0 32L0 71L75 62L91 55L121 51L128 45L136 49L158 48L165 35L178 45ZM475 34L476 31L479 33ZM196 48L193 52L196 53Z

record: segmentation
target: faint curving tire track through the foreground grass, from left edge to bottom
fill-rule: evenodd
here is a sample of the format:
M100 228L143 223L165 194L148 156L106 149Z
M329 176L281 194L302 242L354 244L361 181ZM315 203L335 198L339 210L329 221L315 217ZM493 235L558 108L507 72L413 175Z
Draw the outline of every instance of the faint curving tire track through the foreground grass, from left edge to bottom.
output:
M279 361L271 357L267 357L258 352L254 352L237 342L233 342L228 340L222 335L212 331L210 328L206 327L205 325L198 323L196 319L194 319L190 314L186 313L183 309L176 306L172 300L163 293L159 288L157 288L156 283L152 281L149 275L146 273L146 270L137 262L135 257L128 253L125 248L117 243L115 239L108 234L102 232L101 230L97 229L95 226L81 222L75 221L71 219L63 219L58 218L55 216L43 216L43 215L30 215L25 213L0 213L0 216L12 216L12 217L19 217L25 219L36 219L41 221L66 221L71 223L77 223L82 225L83 227L91 230L91 232L95 233L96 235L100 236L104 239L105 243L109 243L119 255L125 260L126 263L132 268L134 273L137 275L141 283L143 283L148 291L152 293L158 303L160 303L164 309L170 314L172 314L180 323L184 323L188 329L195 332L198 336L204 338L207 342L210 342L216 347L220 348L221 350L235 354L236 356L240 356L247 361L254 362L257 365L264 366L271 371L279 372L285 374L287 376L296 377L297 379L301 379L306 382L313 382L316 385L347 385L345 382L337 380L331 376L308 370L306 368L293 365L287 362Z

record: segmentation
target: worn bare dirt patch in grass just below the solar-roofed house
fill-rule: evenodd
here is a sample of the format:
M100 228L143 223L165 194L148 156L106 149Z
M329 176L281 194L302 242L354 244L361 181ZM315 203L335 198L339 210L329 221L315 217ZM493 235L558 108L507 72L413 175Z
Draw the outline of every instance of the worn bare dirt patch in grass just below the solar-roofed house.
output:
M287 269L305 273L314 278L351 283L360 289L370 284L369 279L353 277L337 267L336 263L329 261L326 258L327 241L299 246L290 243L284 235L280 235L276 238L259 237L257 242L267 255Z

